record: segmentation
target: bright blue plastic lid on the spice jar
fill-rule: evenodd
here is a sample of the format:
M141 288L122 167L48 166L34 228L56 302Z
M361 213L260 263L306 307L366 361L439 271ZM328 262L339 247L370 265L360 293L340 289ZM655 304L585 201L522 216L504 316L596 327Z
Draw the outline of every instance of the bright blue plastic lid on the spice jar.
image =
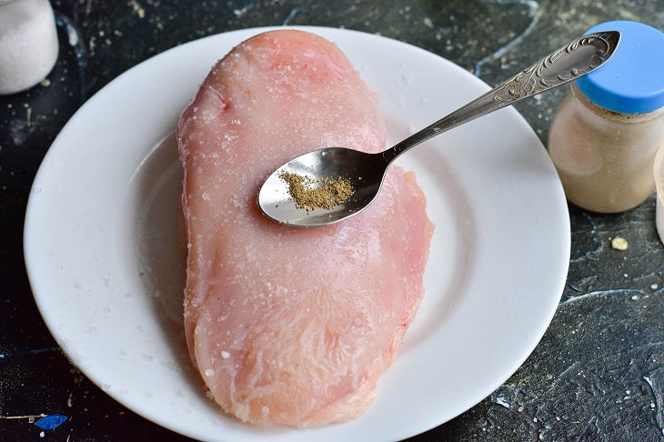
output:
M664 106L664 33L619 20L586 34L619 31L620 43L607 63L576 81L590 101L621 114L644 114Z

